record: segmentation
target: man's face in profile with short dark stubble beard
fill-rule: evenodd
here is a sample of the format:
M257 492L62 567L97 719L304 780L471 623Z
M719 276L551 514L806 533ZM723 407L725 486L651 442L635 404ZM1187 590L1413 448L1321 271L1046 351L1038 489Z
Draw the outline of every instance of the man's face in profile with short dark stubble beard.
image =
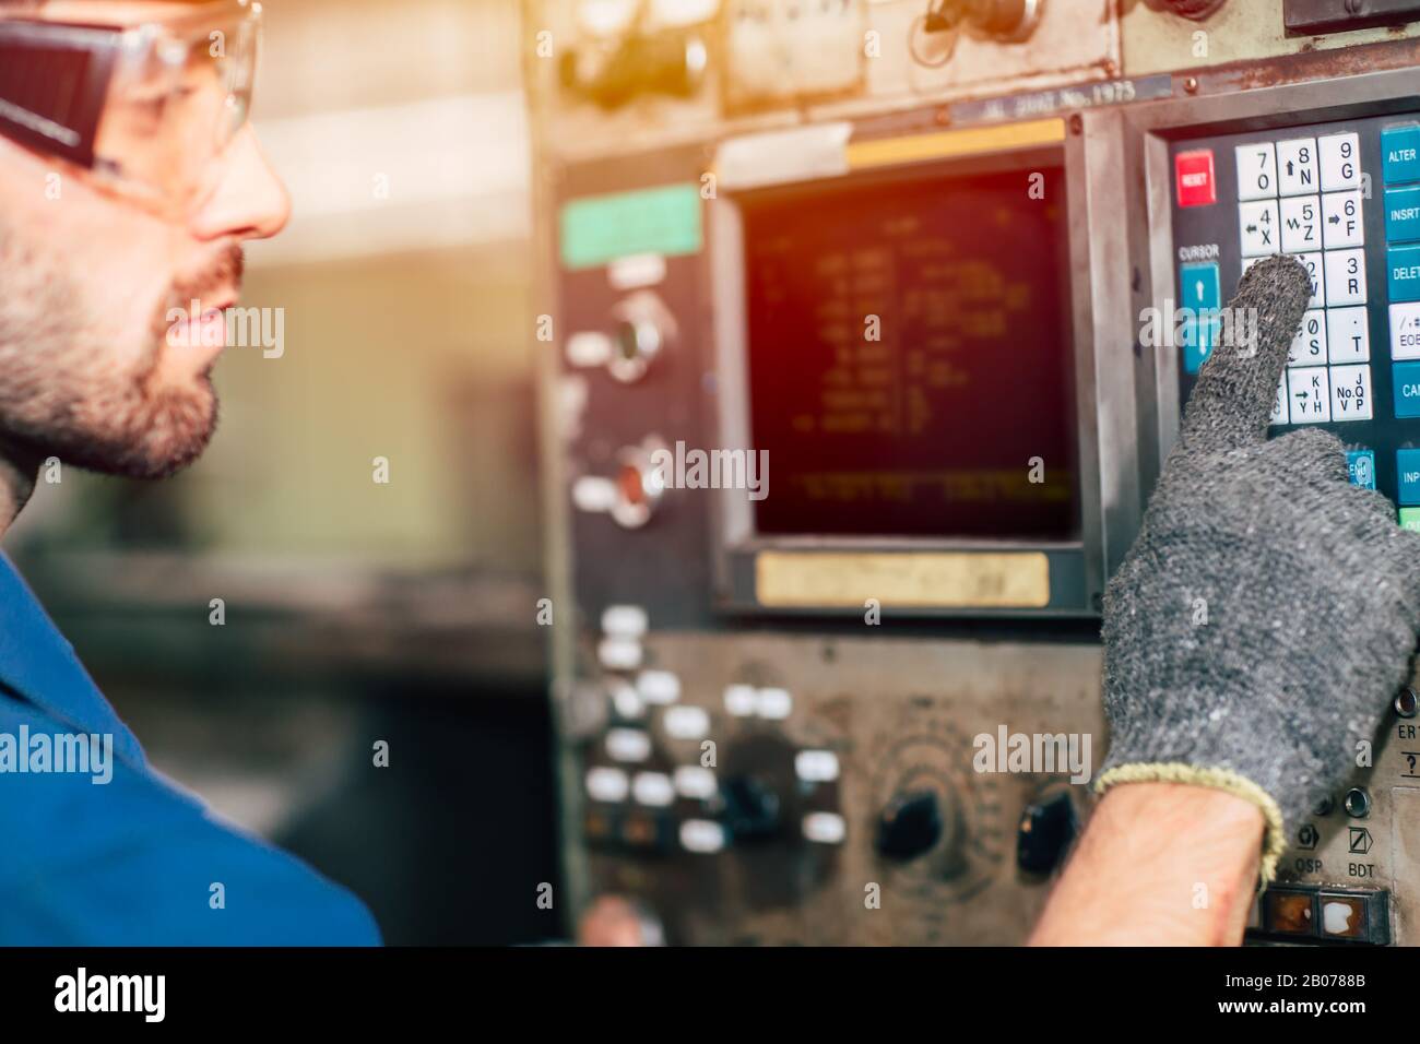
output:
M82 24L193 10L170 0L0 0L0 20ZM180 87L111 104L99 141L166 178L190 158L186 142L207 141L220 102L202 94L220 94L214 80ZM0 440L131 477L170 474L206 447L217 419L213 342L224 338L203 328L237 300L243 240L280 232L290 200L250 124L190 168L190 199L136 197L0 135ZM186 317L193 301L202 318L175 325L169 315Z

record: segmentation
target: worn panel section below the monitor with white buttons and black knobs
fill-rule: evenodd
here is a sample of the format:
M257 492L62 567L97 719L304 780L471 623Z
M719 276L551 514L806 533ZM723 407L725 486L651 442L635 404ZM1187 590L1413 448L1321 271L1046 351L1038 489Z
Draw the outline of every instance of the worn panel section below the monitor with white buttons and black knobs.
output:
M575 783L601 892L639 896L669 939L697 943L1025 936L1088 798L1068 751L1058 771L980 773L974 741L1005 723L1099 736L1095 649L642 641L646 666L574 696L598 723Z

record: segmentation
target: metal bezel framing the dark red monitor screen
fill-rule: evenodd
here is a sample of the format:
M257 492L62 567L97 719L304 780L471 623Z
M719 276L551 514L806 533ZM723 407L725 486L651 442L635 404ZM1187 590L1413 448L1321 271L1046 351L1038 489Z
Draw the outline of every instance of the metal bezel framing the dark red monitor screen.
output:
M1062 124L1064 126L1064 124ZM851 135L852 132L849 132ZM997 554L1039 553L1048 561L1049 599L1038 607L941 605L888 607L895 615L910 616L1079 616L1100 611L1103 584L1137 530L1136 419L1132 366L1119 358L1129 352L1132 322L1127 308L1127 280L1118 271L1123 250L1120 186L1110 185L1109 169L1118 170L1118 135L1064 134L1049 145L993 149L946 159L909 161L890 170L910 172L923 179L950 179L983 169L983 165L1047 159L1064 170L1065 236L1069 257L1068 310L1074 358L1075 466L1078 499L1076 540L991 540L924 537L839 537L768 535L754 526L753 503L743 490L717 490L713 503L713 554L717 607L730 612L790 615L862 615L858 605L797 605L792 609L763 605L755 591L755 562L764 553L821 554ZM723 146L721 146L723 148ZM1089 168L1106 172L1091 183ZM716 443L750 447L748 330L744 300L743 199L767 186L882 176L870 172L812 172L795 178L782 166L775 178L757 179L737 189L721 182L709 205L709 250L711 278L711 325L714 330ZM1089 220L1095 214L1095 227ZM1103 232L1103 234L1100 234ZM1119 237L1118 241L1113 241ZM1113 243L1112 243L1113 241ZM1112 257L1109 257L1113 246ZM1106 332L1113 328L1113 334ZM1126 337L1120 339L1120 330ZM1109 358L1115 357L1115 358ZM1106 405L1108 403L1108 405ZM1022 462L1022 467L1025 462Z

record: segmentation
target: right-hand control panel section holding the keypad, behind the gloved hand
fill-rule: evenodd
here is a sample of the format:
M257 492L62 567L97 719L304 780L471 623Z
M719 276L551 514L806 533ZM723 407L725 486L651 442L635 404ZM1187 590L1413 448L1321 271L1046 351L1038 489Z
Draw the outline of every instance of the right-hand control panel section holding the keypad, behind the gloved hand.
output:
M1140 338L1142 382L1156 392L1163 455L1203 361L1228 337L1228 298L1247 266L1277 253L1312 273L1312 300L1291 345L1272 437L1321 425L1348 452L1352 482L1379 489L1413 524L1417 445L1407 315L1416 293L1406 200L1414 57L1376 54L1338 78L1298 60L1292 82L1231 89L1194 81L1194 97L1119 114L1139 182L1132 239L1140 314L1167 303L1177 338ZM1218 310L1223 310L1220 314ZM1147 331L1149 324L1142 324ZM1233 331L1237 335L1237 330ZM1147 351L1146 351L1147 347ZM1142 435L1147 437L1146 422ZM1299 607L1301 609L1301 607ZM1305 609L1301 609L1305 611ZM1350 780L1292 824L1279 878L1254 910L1260 942L1416 945L1416 692L1397 693Z

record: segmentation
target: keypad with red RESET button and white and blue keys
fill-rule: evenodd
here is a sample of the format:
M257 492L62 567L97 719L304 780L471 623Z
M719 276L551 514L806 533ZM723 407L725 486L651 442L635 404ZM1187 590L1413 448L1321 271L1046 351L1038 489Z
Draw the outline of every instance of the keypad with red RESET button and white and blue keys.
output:
M1194 138L1172 152L1179 301L1190 310L1181 395L1227 342L1237 280L1264 257L1295 257L1312 293L1271 432L1336 432L1350 480L1420 528L1420 114Z

